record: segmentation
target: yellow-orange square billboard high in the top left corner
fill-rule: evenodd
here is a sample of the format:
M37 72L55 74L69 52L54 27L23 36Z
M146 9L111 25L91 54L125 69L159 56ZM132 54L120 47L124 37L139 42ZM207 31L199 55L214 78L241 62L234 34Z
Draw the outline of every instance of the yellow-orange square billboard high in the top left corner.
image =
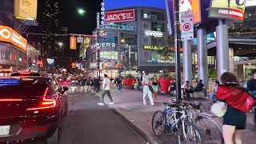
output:
M14 15L18 19L37 19L38 0L15 0Z

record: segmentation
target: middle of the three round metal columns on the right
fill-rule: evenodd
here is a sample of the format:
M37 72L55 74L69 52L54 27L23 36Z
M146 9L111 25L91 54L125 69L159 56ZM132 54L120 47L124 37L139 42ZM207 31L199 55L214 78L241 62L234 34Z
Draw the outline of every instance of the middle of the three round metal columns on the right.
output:
M198 78L202 79L206 90L208 89L208 62L207 62L207 45L206 45L206 30L199 27L197 31L198 37Z

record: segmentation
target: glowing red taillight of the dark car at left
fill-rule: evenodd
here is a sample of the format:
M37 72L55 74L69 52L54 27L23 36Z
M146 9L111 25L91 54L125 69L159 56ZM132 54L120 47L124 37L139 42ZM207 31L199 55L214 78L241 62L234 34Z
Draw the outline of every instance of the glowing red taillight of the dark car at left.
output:
M48 108L55 107L57 105L56 100L51 99L51 98L46 98L47 93L48 93L48 87L46 88L46 91L43 94L42 102L40 103L41 106L34 107L34 108L29 108L29 109L26 109L26 110L42 110L42 109L48 109Z

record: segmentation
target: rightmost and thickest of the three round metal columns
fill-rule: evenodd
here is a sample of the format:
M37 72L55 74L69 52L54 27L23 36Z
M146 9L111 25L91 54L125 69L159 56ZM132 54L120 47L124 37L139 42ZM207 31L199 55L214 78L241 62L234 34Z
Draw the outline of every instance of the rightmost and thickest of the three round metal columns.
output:
M228 27L223 24L224 22L219 20L219 26L216 27L218 78L220 78L224 72L230 71Z

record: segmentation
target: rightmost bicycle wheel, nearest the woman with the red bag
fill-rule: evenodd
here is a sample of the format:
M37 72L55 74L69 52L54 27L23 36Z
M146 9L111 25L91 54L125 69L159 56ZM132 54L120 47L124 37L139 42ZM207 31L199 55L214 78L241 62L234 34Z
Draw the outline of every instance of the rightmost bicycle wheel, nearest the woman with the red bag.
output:
M213 119L207 116L198 116L195 119L195 125L202 134L205 143L223 144L222 130Z

